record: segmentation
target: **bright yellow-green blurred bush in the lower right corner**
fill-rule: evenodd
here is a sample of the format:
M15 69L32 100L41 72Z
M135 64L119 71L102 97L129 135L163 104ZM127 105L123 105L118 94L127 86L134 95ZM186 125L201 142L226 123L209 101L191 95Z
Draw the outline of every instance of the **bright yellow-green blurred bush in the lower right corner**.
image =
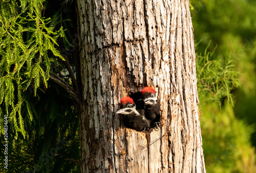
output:
M204 105L201 116L203 149L207 172L255 172L255 150L250 138L254 126L234 116L225 105Z

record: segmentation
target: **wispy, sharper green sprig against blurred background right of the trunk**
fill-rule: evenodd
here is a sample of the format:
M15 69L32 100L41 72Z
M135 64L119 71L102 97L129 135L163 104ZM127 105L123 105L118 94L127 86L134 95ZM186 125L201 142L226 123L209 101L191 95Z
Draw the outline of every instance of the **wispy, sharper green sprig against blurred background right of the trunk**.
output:
M215 55L215 50L207 51L204 55L197 55L197 78L200 103L210 104L217 102L221 106L223 98L233 105L231 90L240 86L239 72L234 69L232 58L223 62Z

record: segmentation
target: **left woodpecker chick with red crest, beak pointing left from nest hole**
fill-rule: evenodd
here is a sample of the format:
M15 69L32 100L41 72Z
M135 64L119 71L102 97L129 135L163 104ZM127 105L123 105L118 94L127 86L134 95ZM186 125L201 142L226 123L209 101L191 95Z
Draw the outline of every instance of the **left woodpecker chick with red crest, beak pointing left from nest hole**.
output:
M122 97L120 110L117 114L123 115L123 125L127 128L142 131L150 128L150 121L146 119L144 109L136 109L133 99L129 96Z

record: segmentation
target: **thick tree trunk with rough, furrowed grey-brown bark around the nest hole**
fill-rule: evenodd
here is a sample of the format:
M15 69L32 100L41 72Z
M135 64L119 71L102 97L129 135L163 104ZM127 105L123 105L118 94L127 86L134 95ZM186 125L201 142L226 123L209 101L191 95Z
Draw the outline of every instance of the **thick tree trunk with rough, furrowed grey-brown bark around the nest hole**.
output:
M205 172L189 1L77 0L82 172ZM120 98L153 86L162 127L124 128Z

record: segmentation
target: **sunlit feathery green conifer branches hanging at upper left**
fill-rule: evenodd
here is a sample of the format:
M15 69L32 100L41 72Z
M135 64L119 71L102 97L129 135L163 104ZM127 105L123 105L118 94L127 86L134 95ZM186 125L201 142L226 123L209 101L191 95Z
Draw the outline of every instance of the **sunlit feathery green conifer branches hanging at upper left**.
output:
M63 30L56 30L51 26L51 18L41 15L43 3L44 1L20 1L21 12L18 12L17 2L1 2L0 104L6 108L16 135L21 132L24 137L26 132L20 111L23 106L31 106L23 92L31 85L34 95L40 85L47 88L51 62L56 62L58 58L64 60L55 48L58 46L57 39L64 36ZM3 7L10 9L10 12ZM28 114L32 120L29 109ZM2 128L1 126L3 133Z

